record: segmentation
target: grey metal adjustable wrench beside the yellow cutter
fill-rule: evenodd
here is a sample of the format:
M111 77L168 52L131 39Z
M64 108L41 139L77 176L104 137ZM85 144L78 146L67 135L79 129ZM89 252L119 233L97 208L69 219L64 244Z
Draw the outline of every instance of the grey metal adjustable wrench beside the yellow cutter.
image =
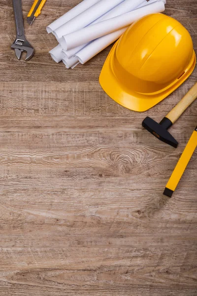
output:
M22 3L21 0L12 0L12 4L16 25L16 39L12 43L11 48L15 50L15 55L19 60L21 59L22 52L26 51L27 55L25 60L28 61L33 57L34 49L25 37Z

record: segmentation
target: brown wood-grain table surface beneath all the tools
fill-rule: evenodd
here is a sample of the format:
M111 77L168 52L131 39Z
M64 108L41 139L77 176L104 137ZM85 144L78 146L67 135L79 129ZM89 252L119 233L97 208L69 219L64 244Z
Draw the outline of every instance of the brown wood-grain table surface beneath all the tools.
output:
M33 0L23 0L24 16ZM161 104L129 111L99 86L110 48L66 70L45 27L79 0L48 0L18 61L11 0L0 0L0 296L197 296L197 151L171 199L163 190L197 125L197 102L171 133L177 149L141 127L159 121L197 81ZM167 0L191 33L197 1Z

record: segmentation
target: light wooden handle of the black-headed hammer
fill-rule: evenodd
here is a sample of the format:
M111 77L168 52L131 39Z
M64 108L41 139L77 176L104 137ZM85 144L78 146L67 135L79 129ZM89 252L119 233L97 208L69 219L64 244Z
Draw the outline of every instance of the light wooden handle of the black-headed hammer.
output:
M183 99L165 116L174 123L197 98L197 83L189 90Z

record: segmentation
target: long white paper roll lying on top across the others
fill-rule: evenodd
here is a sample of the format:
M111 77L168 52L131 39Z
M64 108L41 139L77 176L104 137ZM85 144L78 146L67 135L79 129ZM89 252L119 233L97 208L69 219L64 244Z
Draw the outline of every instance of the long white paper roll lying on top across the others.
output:
M98 24L88 26L86 28L83 28L81 30L64 36L63 47L66 50L69 50L73 47L77 47L91 40L94 40L96 38L102 37L119 29L122 29L126 26L129 26L133 22L137 21L145 15L163 12L164 10L164 2L161 0L138 8L131 12L125 13L124 15L116 16L109 20L101 21Z

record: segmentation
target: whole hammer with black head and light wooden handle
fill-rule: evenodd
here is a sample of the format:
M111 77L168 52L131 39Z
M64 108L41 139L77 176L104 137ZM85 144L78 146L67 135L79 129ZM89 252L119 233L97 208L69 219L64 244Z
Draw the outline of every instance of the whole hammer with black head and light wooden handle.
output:
M174 148L177 148L178 142L172 137L172 135L167 130L196 100L196 98L197 83L189 90L189 92L183 97L183 99L162 119L160 123L157 123L154 119L147 116L143 120L142 126L162 142Z

